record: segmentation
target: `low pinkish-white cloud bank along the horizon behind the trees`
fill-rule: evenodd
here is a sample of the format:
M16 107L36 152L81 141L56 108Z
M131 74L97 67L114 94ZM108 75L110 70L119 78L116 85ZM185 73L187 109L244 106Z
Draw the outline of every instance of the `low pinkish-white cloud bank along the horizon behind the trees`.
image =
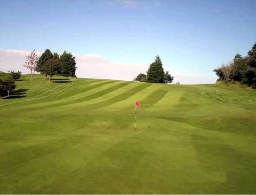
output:
M30 52L25 50L0 49L0 71L8 70L21 71L23 74L30 71L22 64L25 62L25 55ZM42 52L37 52L41 54ZM117 79L131 81L139 73L146 73L148 66L143 64L115 63L105 59L98 54L74 54L76 58L77 77ZM174 83L180 81L181 84L204 84L215 83L215 78L208 77L188 77L174 75Z

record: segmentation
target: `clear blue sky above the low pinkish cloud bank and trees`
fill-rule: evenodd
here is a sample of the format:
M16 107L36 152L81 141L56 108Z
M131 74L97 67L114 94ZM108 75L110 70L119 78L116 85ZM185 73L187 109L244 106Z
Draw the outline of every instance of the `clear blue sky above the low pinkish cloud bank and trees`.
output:
M256 1L0 1L0 49L98 54L150 64L159 54L172 74L212 70L256 41Z

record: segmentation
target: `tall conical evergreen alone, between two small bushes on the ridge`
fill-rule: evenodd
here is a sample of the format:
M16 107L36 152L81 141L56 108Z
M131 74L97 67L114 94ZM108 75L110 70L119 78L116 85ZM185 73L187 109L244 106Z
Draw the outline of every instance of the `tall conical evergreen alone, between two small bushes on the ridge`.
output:
M148 68L147 81L149 83L163 83L164 82L163 64L158 55L155 58L155 62L151 63Z

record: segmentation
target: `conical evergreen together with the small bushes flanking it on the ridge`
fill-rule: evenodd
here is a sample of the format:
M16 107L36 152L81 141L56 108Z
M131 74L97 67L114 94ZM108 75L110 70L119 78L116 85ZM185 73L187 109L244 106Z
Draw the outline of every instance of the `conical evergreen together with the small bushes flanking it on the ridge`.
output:
M168 71L164 72L162 61L157 55L155 61L150 64L147 74L138 74L133 80L149 83L172 83L173 77Z

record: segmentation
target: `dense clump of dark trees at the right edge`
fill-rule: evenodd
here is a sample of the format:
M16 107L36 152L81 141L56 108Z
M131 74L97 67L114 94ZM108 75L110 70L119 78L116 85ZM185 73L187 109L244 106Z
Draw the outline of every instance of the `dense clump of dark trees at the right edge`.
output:
M256 89L256 43L246 56L236 54L231 62L221 64L213 72L218 76L217 81L238 81Z

